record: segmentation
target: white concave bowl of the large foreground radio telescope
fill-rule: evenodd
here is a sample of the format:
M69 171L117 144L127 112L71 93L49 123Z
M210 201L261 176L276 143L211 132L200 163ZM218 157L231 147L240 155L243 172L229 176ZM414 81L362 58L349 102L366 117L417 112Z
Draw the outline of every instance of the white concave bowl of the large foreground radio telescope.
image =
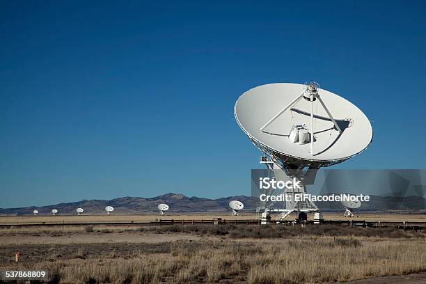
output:
M373 136L367 116L343 97L318 87L310 91L310 86L277 83L252 88L237 100L235 118L253 142L297 165L337 164L367 148ZM315 139L292 142L289 137L297 125L306 125Z

